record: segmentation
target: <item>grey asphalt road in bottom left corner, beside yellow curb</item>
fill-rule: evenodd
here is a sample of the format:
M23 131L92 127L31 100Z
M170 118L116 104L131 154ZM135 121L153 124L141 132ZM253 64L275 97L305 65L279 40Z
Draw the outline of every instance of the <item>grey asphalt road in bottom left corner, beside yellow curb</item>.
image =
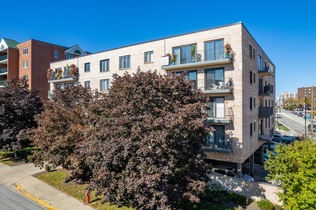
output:
M8 187L0 184L0 209L2 210L43 210L46 209Z

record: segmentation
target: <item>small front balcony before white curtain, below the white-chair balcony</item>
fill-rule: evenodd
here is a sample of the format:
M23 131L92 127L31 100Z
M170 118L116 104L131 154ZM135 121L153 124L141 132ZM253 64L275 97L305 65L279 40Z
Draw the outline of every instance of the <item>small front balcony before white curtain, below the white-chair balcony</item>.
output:
M207 120L210 123L231 123L234 119L232 108L207 108Z

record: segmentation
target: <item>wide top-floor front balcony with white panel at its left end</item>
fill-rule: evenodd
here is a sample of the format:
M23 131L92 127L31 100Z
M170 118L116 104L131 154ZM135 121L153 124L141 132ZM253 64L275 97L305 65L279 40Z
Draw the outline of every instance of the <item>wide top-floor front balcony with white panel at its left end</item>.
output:
M173 57L176 57L176 61L170 62ZM192 52L162 56L161 69L179 69L231 62L232 60L230 56L225 56L224 54L224 47L220 47L210 50L196 51L195 56L192 56Z

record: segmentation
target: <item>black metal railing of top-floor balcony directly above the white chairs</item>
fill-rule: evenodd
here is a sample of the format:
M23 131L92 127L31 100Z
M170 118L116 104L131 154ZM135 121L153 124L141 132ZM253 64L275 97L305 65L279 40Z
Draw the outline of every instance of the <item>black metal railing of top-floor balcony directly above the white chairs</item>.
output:
M162 56L164 57L164 56ZM230 55L225 55L224 47L209 49L209 50L198 50L192 54L192 52L187 53L179 53L169 55L169 64L170 65L178 65L184 63L193 63L193 62L201 62L201 61L213 61L225 59L225 57L230 58ZM175 58L176 61L172 62L171 60Z

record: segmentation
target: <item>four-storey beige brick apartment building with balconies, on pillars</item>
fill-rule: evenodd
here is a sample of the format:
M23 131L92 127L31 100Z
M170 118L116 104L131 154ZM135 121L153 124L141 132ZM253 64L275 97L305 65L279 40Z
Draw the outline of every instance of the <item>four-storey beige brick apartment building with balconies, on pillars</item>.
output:
M224 52L227 43L230 55ZM262 144L273 138L275 66L241 22L52 62L51 68L64 70L67 64L78 67L78 77L53 76L51 91L53 85L78 83L107 91L113 73L133 73L138 66L167 75L188 71L192 88L210 97L207 122L216 132L206 139L207 158L235 163L238 176L247 159L253 174L254 152L260 148L262 162Z

